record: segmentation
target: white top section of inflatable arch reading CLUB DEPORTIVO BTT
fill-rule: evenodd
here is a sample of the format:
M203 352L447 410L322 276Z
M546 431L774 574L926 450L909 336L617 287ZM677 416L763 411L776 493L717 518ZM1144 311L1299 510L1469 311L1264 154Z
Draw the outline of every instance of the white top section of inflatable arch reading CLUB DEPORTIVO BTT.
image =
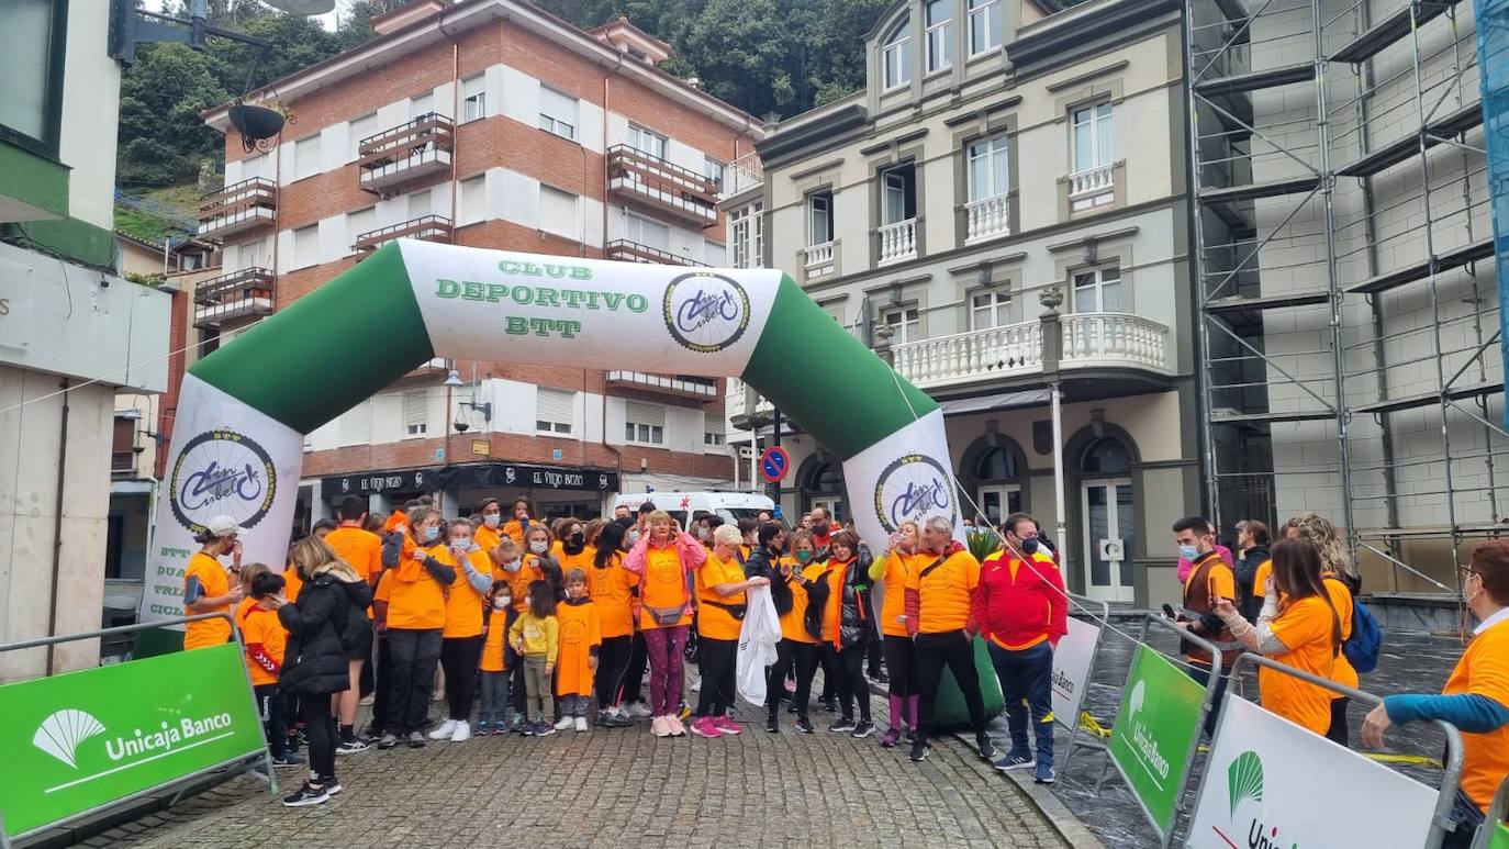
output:
M742 374L780 287L764 268L400 244L430 342L459 359Z

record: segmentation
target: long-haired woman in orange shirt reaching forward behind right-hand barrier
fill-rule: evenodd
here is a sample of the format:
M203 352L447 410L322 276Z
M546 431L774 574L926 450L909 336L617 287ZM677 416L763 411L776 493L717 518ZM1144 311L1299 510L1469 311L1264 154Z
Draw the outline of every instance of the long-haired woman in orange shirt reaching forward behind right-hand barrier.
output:
M1231 599L1216 599L1215 612L1248 651L1329 679L1342 651L1342 617L1320 578L1320 553L1308 541L1283 540L1272 555L1272 590L1257 624L1242 618ZM1263 707L1302 728L1325 736L1331 725L1331 691L1322 686L1263 667L1257 691Z

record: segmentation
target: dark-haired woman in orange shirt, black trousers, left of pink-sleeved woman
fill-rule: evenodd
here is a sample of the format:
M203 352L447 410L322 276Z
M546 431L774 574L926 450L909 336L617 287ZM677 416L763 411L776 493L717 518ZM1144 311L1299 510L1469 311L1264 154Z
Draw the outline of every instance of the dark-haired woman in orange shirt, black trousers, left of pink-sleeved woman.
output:
M634 576L623 569L625 528L617 522L604 525L595 540L592 565L587 569L587 593L598 606L602 623L602 647L593 683L598 691L598 724L623 728L634 724L623 712L623 674L629 668L634 648Z

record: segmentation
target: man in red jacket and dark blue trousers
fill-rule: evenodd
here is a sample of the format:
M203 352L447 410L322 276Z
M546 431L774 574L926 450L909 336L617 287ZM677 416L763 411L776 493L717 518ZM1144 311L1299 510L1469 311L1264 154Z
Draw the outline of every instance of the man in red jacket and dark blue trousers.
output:
M1011 751L996 769L1034 769L1040 784L1053 783L1053 650L1068 633L1064 578L1037 538L1037 520L1013 513L1002 523L1005 544L985 558L975 588L973 618L990 650L990 662L1007 700ZM1037 760L1028 748L1028 713L1037 736Z

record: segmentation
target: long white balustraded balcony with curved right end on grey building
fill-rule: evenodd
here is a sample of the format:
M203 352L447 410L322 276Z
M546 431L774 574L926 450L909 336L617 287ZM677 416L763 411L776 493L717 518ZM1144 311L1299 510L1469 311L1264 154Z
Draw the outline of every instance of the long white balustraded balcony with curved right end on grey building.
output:
M1168 327L1124 312L1061 320L1064 371L1121 368L1172 374ZM1023 321L892 345L896 371L922 389L960 386L1043 371L1043 323Z

